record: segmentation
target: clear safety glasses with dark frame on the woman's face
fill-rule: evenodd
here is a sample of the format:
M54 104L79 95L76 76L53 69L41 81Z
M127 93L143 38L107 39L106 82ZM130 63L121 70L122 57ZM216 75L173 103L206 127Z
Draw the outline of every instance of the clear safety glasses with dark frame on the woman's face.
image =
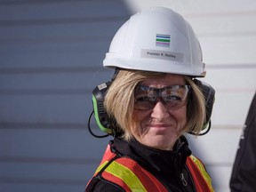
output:
M149 110L156 106L156 102L161 100L168 110L178 109L187 103L189 85L172 85L161 89L138 85L134 91L134 108Z

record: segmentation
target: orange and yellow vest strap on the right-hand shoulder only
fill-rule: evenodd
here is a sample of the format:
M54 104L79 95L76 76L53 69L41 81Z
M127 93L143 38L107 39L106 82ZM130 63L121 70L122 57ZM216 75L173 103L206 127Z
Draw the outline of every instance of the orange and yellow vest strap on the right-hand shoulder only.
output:
M204 164L195 156L188 156L186 164L195 182L197 192L213 192L212 180L204 169Z

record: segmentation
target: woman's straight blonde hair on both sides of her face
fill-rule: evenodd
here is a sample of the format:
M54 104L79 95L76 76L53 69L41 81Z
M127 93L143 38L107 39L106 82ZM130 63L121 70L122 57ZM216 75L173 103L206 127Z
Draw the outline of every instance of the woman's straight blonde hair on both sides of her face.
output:
M132 121L132 113L135 86L148 78L161 78L163 76L166 76L166 74L149 71L120 70L116 79L110 85L104 100L104 107L110 119L115 119L115 129L121 129L124 132L124 140L132 139L131 127L134 123ZM192 89L188 96L188 121L181 133L195 132L198 134L202 130L205 118L204 95L191 80L191 77L184 77Z

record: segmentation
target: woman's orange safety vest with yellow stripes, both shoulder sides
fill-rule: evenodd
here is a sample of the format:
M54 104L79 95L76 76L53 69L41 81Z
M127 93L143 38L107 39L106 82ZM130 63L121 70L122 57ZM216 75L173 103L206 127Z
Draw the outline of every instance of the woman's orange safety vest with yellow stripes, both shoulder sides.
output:
M155 176L131 158L122 156L114 160L115 156L116 154L112 153L108 146L94 176L103 169L101 176L105 180L116 183L125 191L168 191ZM112 160L114 161L108 164ZM196 191L213 192L212 180L204 169L204 164L195 156L188 156L186 164L195 182Z

